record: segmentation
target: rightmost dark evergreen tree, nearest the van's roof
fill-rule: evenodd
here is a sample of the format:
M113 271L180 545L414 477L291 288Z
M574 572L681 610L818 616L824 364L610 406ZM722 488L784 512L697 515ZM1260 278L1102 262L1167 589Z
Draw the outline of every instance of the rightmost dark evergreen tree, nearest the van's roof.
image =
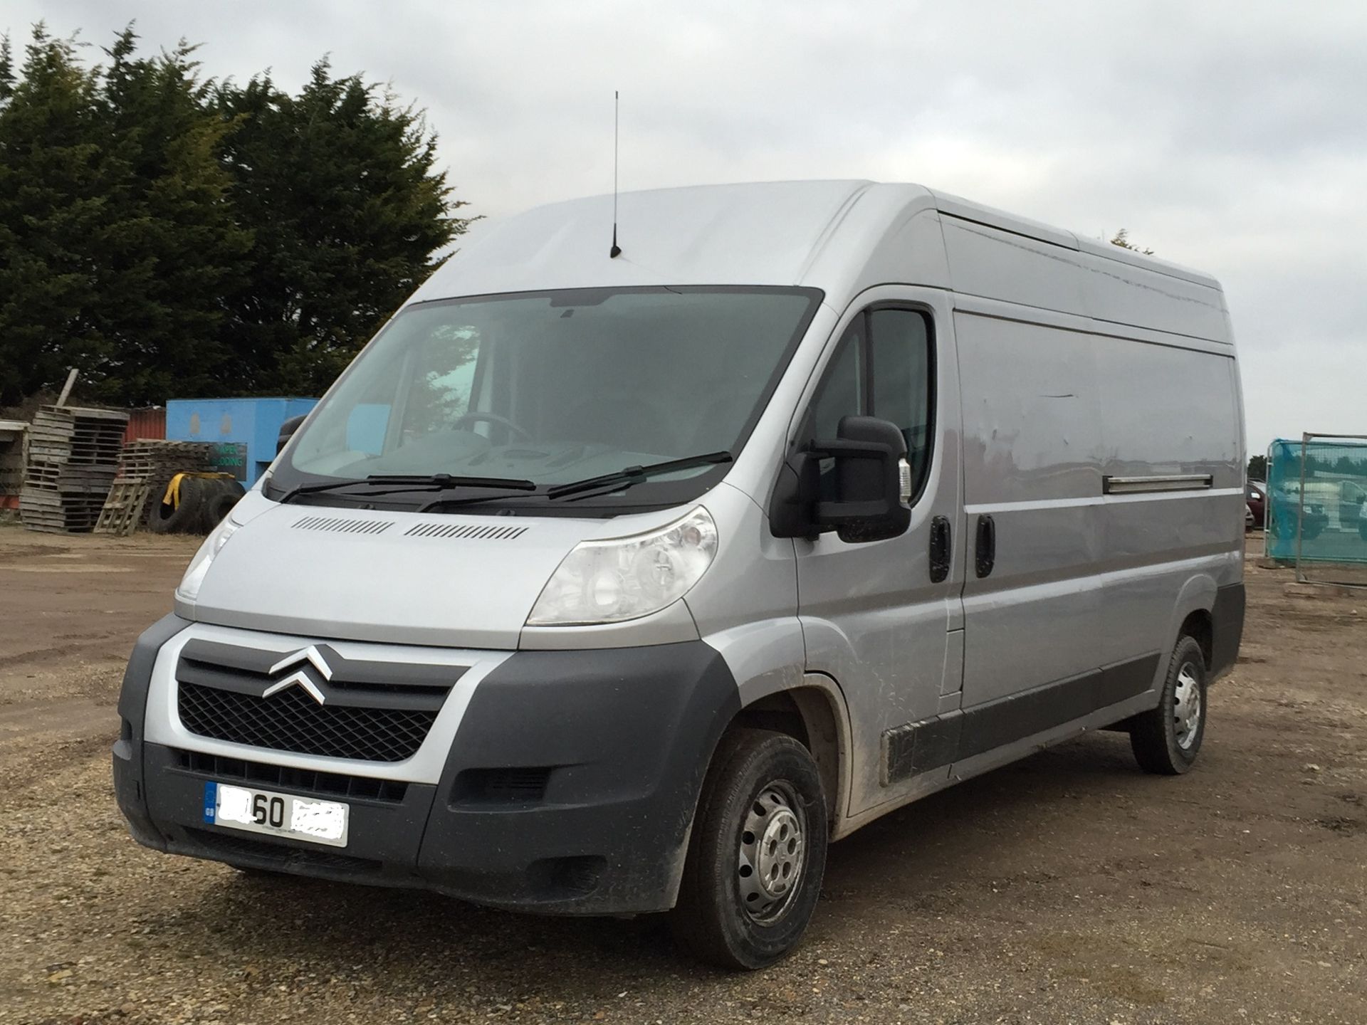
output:
M223 87L239 223L256 234L246 284L228 297L226 344L256 390L316 395L465 231L451 217L436 138L358 75L313 67L298 96L268 78Z

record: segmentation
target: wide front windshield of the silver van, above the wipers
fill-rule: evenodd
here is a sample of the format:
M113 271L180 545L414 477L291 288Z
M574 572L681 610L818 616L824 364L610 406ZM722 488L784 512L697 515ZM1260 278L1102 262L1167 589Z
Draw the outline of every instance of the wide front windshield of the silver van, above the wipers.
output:
M805 288L662 287L417 303L328 394L272 491L394 474L544 491L626 466L734 455L819 299ZM633 499L660 500L660 484L714 469L664 474ZM355 499L336 491L325 500Z

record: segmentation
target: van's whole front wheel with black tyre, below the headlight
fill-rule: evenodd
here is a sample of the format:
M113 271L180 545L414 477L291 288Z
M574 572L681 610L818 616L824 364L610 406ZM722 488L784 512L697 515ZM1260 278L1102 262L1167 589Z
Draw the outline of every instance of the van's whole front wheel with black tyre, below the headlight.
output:
M770 730L722 738L699 798L670 925L720 968L771 965L797 946L826 871L822 778L807 748Z

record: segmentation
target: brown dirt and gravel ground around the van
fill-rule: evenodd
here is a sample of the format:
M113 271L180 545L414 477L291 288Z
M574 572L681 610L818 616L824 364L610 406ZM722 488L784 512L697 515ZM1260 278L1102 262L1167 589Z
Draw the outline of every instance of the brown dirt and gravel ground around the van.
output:
M109 783L123 661L187 538L0 526L0 1025L1367 1022L1367 593L1249 562L1197 768L1046 750L831 849L781 965L144 850Z

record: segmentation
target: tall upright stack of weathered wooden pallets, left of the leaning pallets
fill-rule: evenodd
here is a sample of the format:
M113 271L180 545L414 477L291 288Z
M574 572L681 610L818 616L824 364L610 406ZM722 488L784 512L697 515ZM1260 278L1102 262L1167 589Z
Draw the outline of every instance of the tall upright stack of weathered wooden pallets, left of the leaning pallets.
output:
M42 406L29 428L19 518L30 530L94 529L119 472L127 413Z

